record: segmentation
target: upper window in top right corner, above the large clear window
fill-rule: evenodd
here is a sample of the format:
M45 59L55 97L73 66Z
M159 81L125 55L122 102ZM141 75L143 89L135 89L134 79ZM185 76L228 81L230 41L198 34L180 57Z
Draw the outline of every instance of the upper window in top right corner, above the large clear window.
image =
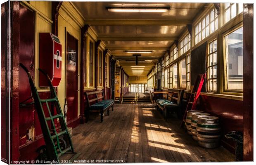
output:
M225 23L243 11L242 3L225 3Z

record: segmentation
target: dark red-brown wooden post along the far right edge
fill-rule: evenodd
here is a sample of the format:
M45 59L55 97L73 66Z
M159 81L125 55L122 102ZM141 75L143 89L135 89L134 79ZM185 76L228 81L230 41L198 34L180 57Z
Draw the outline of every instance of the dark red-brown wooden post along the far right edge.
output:
M244 161L253 161L254 141L254 4L244 4L243 13L243 80L244 80Z

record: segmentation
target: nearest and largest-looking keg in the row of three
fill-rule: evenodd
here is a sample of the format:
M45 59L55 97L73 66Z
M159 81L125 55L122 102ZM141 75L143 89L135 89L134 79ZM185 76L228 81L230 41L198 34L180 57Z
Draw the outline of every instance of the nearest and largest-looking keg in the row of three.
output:
M220 136L220 122L218 117L197 117L197 139L199 146L216 148L219 146Z

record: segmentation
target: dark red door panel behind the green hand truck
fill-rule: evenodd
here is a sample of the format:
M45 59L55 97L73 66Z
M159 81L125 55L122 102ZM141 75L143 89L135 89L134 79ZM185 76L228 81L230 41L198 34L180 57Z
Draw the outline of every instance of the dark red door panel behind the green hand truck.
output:
M24 64L34 78L35 73L35 12L19 5L19 62ZM19 102L31 97L28 75L19 67ZM27 102L31 102L29 99ZM19 145L26 144L29 139L28 129L34 126L35 113L31 106L19 108ZM18 121L14 121L18 122Z

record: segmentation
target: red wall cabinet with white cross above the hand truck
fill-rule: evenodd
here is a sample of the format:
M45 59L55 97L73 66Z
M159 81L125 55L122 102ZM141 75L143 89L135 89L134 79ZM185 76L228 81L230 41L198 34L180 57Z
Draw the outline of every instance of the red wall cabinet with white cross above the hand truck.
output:
M43 69L57 87L62 78L62 45L52 33L39 33L39 68ZM47 87L46 77L39 72L39 86Z

